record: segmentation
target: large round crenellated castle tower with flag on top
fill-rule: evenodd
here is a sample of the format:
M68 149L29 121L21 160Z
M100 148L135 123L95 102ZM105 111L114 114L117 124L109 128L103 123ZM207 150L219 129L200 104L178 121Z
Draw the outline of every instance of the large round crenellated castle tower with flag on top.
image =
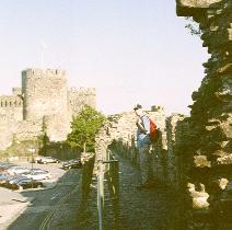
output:
M67 114L67 78L63 70L22 71L22 93L23 117L26 120Z

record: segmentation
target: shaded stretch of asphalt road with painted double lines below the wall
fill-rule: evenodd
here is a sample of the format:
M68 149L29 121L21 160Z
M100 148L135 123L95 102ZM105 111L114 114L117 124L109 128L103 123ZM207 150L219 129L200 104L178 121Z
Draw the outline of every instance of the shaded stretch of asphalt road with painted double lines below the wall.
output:
M80 179L80 170L70 170L53 189L22 193L35 199L8 230L77 229Z

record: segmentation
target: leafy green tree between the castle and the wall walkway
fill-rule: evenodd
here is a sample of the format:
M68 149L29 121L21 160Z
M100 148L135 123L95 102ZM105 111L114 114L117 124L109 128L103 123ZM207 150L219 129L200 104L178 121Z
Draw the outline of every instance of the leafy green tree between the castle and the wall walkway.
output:
M77 116L72 117L72 131L68 135L67 142L72 148L92 151L95 146L95 135L104 120L105 116L102 113L85 105Z

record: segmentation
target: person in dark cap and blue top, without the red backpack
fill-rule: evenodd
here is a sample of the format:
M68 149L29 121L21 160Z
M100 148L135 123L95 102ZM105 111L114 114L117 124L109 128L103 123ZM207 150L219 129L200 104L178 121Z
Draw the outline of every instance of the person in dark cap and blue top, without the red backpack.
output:
M153 185L152 181L152 156L150 152L151 139L150 139L150 119L146 115L140 104L134 107L134 111L138 117L137 125L137 148L140 160L141 172L141 188L149 188Z

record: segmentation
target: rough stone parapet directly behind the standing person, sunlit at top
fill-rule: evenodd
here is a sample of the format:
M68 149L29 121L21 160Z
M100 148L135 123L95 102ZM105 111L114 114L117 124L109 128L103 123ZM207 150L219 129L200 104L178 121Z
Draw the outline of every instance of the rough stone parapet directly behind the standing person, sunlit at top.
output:
M152 169L159 181L166 183L165 153L167 150L165 133L165 113L163 107L153 106L152 111L147 112L149 117L155 120L161 130L161 137L152 150ZM136 120L135 112L127 112L112 115L108 117L103 128L96 136L96 161L106 158L106 149L114 148L117 153L130 159L138 164L136 150ZM158 157L159 156L159 157ZM156 158L158 157L158 158Z

